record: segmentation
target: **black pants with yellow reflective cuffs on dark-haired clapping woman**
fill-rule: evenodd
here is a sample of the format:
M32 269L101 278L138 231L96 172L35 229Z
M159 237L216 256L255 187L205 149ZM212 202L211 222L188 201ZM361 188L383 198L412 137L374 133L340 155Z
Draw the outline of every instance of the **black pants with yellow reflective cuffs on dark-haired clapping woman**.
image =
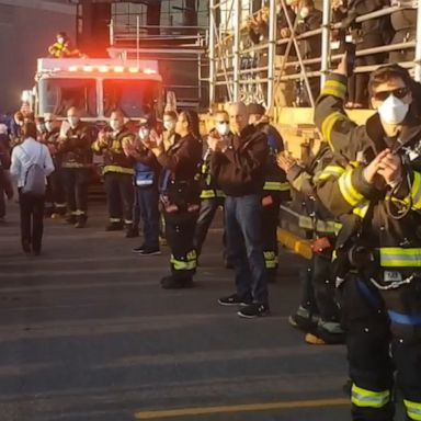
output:
M197 265L193 238L198 212L166 212L164 217L166 238L171 250L171 274L174 280L191 280Z

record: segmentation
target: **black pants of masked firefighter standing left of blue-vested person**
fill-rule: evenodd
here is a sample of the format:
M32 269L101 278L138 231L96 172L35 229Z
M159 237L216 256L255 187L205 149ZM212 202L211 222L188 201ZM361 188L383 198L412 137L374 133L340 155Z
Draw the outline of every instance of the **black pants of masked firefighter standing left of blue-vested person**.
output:
M133 175L118 172L107 172L104 175L106 203L109 206L110 221L126 225L133 224L133 205L135 187Z

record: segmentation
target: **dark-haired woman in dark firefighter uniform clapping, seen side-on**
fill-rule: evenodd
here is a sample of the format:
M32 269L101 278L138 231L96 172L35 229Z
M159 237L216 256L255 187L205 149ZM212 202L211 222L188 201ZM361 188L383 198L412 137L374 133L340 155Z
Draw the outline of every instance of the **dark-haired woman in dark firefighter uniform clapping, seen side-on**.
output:
M198 116L193 111L179 114L175 133L180 137L167 151L162 136L151 133L144 140L162 167L161 201L166 218L166 237L171 249L171 275L161 280L164 289L193 286L197 258L193 247L200 209L197 168L202 160Z

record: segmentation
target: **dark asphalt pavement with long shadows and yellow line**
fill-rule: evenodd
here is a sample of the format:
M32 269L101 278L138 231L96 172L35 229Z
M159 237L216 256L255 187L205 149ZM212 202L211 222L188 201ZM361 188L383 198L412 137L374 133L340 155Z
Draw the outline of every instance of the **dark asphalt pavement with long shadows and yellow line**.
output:
M240 319L220 218L196 286L163 291L169 251L105 232L94 203L86 229L46 219L44 252L26 257L16 206L0 226L0 421L346 421L345 350L315 346L287 316L306 263L282 250L272 316Z

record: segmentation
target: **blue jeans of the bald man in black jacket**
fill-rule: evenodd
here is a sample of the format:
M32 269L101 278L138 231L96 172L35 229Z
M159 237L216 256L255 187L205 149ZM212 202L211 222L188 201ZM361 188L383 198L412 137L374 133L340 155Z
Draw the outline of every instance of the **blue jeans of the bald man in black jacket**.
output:
M225 200L225 229L236 270L237 294L268 303L268 275L262 242L262 204L258 194Z

